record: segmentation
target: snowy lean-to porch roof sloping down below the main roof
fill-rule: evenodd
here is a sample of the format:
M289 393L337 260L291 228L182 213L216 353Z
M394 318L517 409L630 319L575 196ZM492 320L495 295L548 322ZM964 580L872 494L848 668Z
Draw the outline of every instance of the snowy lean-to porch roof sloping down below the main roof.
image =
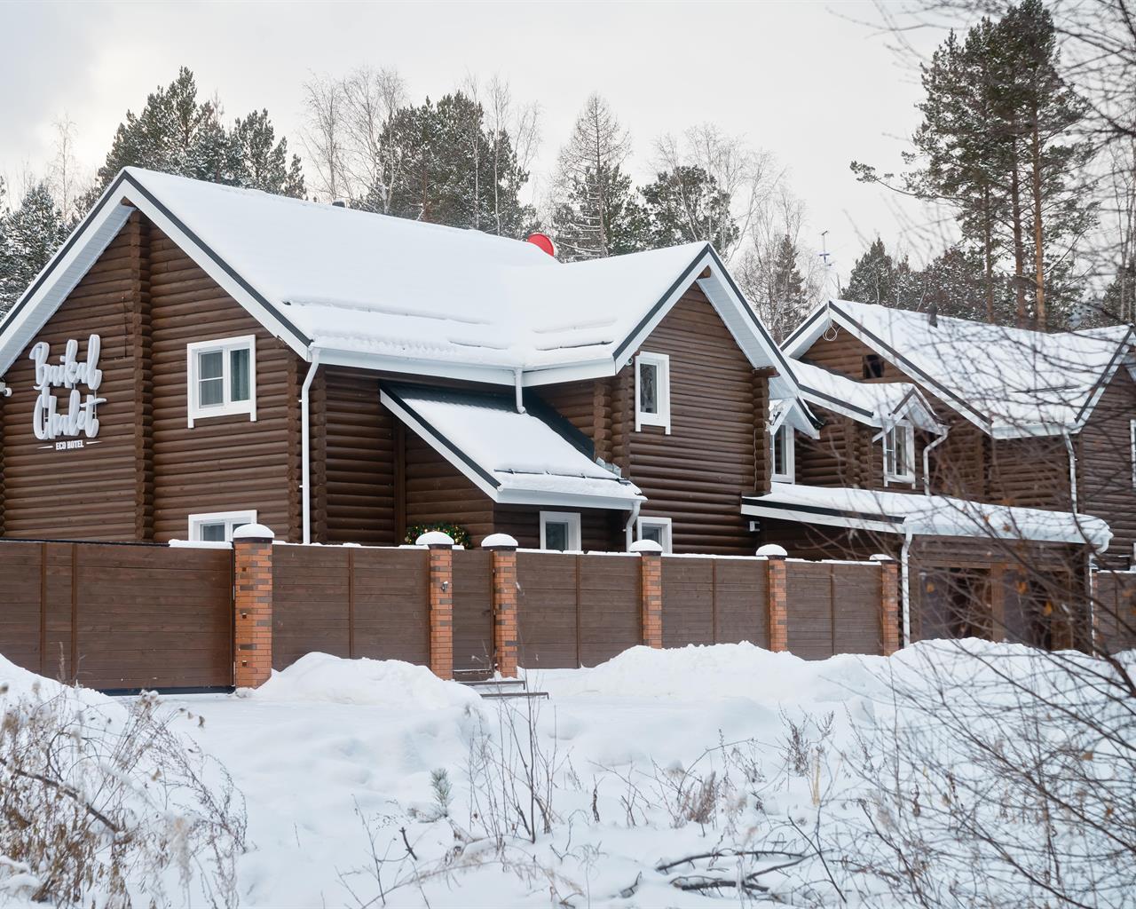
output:
M598 464L592 441L535 400L384 384L383 405L493 501L630 509L638 489Z

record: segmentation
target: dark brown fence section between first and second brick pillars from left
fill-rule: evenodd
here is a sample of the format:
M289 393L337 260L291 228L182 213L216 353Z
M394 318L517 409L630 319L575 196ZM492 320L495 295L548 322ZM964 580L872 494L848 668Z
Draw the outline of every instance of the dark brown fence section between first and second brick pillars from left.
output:
M424 549L273 547L273 668L311 651L428 664L428 590Z

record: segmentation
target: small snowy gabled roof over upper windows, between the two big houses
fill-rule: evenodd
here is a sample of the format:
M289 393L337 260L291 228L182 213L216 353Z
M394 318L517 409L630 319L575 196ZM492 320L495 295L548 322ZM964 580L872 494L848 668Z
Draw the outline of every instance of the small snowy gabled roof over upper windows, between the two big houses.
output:
M916 385L908 382L854 382L819 366L793 360L801 397L809 403L886 428L900 419L927 432L946 432Z

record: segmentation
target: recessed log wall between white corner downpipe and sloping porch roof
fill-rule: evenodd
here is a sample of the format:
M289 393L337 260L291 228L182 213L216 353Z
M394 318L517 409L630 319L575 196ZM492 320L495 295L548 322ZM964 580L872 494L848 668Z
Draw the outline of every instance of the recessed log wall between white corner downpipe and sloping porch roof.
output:
M314 407L321 444L319 520L324 542L401 543L394 519L394 418L374 373L320 369L323 407ZM320 461L317 459L317 464Z

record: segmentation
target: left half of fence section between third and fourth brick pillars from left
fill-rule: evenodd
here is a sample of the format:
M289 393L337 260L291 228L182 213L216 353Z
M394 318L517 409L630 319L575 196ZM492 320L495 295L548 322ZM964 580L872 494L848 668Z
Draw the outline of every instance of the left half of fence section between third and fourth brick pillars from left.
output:
M577 556L517 553L518 660L526 669L579 665Z

